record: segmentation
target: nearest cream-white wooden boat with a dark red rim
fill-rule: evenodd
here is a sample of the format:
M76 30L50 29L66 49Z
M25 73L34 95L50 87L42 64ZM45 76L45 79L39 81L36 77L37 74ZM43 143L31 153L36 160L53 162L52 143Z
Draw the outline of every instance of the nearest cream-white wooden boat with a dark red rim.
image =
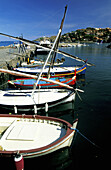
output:
M77 123L77 119L71 125L65 120L46 116L0 115L0 158L8 158L12 164L15 160L19 163L16 166L23 169L24 160L70 147Z

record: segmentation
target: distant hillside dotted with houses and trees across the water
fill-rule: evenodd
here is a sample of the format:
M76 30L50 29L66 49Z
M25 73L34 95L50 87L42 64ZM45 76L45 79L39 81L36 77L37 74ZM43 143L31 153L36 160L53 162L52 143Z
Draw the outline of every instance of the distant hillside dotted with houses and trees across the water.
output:
M50 42L54 42L56 36L45 37ZM44 37L40 37L35 41L42 41ZM61 36L60 42L73 43L73 42L103 42L111 43L111 28L91 28L77 29L65 33Z

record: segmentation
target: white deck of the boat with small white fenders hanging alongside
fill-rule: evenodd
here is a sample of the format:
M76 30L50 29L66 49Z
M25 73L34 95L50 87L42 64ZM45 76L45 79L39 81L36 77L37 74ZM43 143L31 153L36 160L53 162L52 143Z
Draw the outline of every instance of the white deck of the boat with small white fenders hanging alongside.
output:
M9 90L9 91L0 91L0 104L3 105L33 105L33 104L44 104L59 100L61 98L67 97L69 91L58 91L56 89L53 90L44 90L35 91L33 97L32 91L16 91L16 90Z

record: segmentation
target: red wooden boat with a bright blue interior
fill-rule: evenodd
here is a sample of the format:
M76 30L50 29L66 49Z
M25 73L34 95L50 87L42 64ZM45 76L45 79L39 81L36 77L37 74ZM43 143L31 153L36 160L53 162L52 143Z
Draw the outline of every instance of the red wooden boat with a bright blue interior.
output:
M76 83L76 76L72 78L51 78L53 81L58 81L64 84L68 85L74 85ZM17 88L20 89L32 89L34 84L36 83L36 79L31 79L31 78L21 78L21 79L16 79L16 80L9 80L8 83L11 85L14 85ZM54 84L54 83L49 83L43 80L40 80L37 84L36 88L61 88L60 85Z

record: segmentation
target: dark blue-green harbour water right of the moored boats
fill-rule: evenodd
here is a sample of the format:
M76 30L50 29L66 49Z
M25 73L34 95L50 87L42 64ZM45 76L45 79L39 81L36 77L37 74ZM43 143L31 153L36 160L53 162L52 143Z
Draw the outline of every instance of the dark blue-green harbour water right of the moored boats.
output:
M97 146L77 134L70 154L63 150L57 156L58 159L60 158L60 164L53 155L55 164L53 169L107 169L110 167L111 150L111 49L107 49L106 44L88 44L81 47L61 48L61 50L88 59L88 62L95 66L87 67L85 76L79 77L77 81L77 88L84 90L84 93L79 93L82 101L76 95L74 103L57 106L50 109L47 114L65 119L70 123L78 118L77 129ZM65 58L65 60L64 66L82 64L70 58ZM51 114L52 111L53 114ZM45 161L50 167L49 156L45 157ZM38 166L33 167L34 170L39 169Z

